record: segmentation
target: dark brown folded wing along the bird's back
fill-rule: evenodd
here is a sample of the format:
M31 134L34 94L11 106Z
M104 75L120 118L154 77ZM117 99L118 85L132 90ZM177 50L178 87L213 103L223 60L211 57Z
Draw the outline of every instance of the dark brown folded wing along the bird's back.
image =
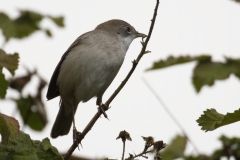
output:
M55 68L52 78L50 80L49 86L48 86L48 91L47 91L47 100L51 100L57 96L60 95L59 92L59 88L57 85L57 78L58 78L58 74L61 68L61 64L63 63L64 59L66 58L66 56L68 55L68 53L76 46L80 45L80 40L81 40L81 36L79 36L74 42L73 44L68 48L68 50L63 54L60 62L58 63L57 67Z

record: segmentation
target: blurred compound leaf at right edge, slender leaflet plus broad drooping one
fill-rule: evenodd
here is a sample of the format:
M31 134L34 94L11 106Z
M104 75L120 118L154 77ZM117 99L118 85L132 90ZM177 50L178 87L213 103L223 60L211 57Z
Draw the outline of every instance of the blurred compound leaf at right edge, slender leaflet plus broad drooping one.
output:
M231 59L225 57L226 62L212 62L211 56L200 55L196 57L169 56L166 60L154 62L149 70L162 69L173 65L197 61L197 65L193 70L192 83L197 92L200 92L203 86L212 86L215 80L227 79L231 74L236 75L240 79L240 59Z

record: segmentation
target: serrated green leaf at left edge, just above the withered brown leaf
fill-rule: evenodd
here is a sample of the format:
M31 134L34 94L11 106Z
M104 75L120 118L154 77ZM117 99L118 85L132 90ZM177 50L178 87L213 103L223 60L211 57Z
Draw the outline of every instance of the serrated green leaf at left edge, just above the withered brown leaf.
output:
M6 54L6 52L0 49L0 68L5 67L12 75L14 75L15 70L18 68L18 61L18 53Z

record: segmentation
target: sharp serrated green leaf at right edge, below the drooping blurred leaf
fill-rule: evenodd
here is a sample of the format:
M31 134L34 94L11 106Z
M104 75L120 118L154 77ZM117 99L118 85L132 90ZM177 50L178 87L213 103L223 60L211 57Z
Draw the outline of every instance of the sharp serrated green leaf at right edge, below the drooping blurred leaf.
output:
M240 109L226 115L218 113L215 109L207 109L197 120L198 125L206 132L237 121L240 121Z

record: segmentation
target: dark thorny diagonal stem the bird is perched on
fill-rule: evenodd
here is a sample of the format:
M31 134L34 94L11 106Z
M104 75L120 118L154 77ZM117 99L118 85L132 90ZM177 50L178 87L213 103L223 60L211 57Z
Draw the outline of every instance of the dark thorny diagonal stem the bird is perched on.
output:
M142 50L140 52L140 54L138 55L137 59L133 61L133 66L131 68L131 70L129 71L129 73L127 74L126 78L122 81L122 83L119 85L119 87L115 90L115 92L111 95L111 97L106 101L105 104L102 104L102 108L107 111L109 109L109 105L110 103L113 101L113 99L117 96L117 94L121 91L121 89L124 87L124 85L127 83L128 79L131 77L132 73L134 72L135 68L137 67L137 64L139 63L140 59L142 58L142 56L145 53L148 53L149 51L146 51L147 48L147 44L150 40L150 37L152 35L152 31L153 31L153 27L155 24L155 20L157 17L157 10L158 10L158 6L159 6L159 0L157 0L155 9L154 9L154 14L153 14L153 18L152 18L152 22L151 22L151 26L148 32L148 36L146 38L146 41L142 42ZM69 157L72 155L73 151L78 147L78 144L81 143L81 141L83 140L83 138L85 137L85 135L91 130L91 128L93 127L93 125L95 124L95 122L98 120L98 118L101 116L102 111L98 110L98 112L94 115L94 117L92 118L92 120L88 123L88 125L85 127L85 129L83 130L83 132L81 134L78 135L76 141L72 144L72 146L69 148L69 150L67 151L66 155L64 155L64 159L67 160L69 159Z

